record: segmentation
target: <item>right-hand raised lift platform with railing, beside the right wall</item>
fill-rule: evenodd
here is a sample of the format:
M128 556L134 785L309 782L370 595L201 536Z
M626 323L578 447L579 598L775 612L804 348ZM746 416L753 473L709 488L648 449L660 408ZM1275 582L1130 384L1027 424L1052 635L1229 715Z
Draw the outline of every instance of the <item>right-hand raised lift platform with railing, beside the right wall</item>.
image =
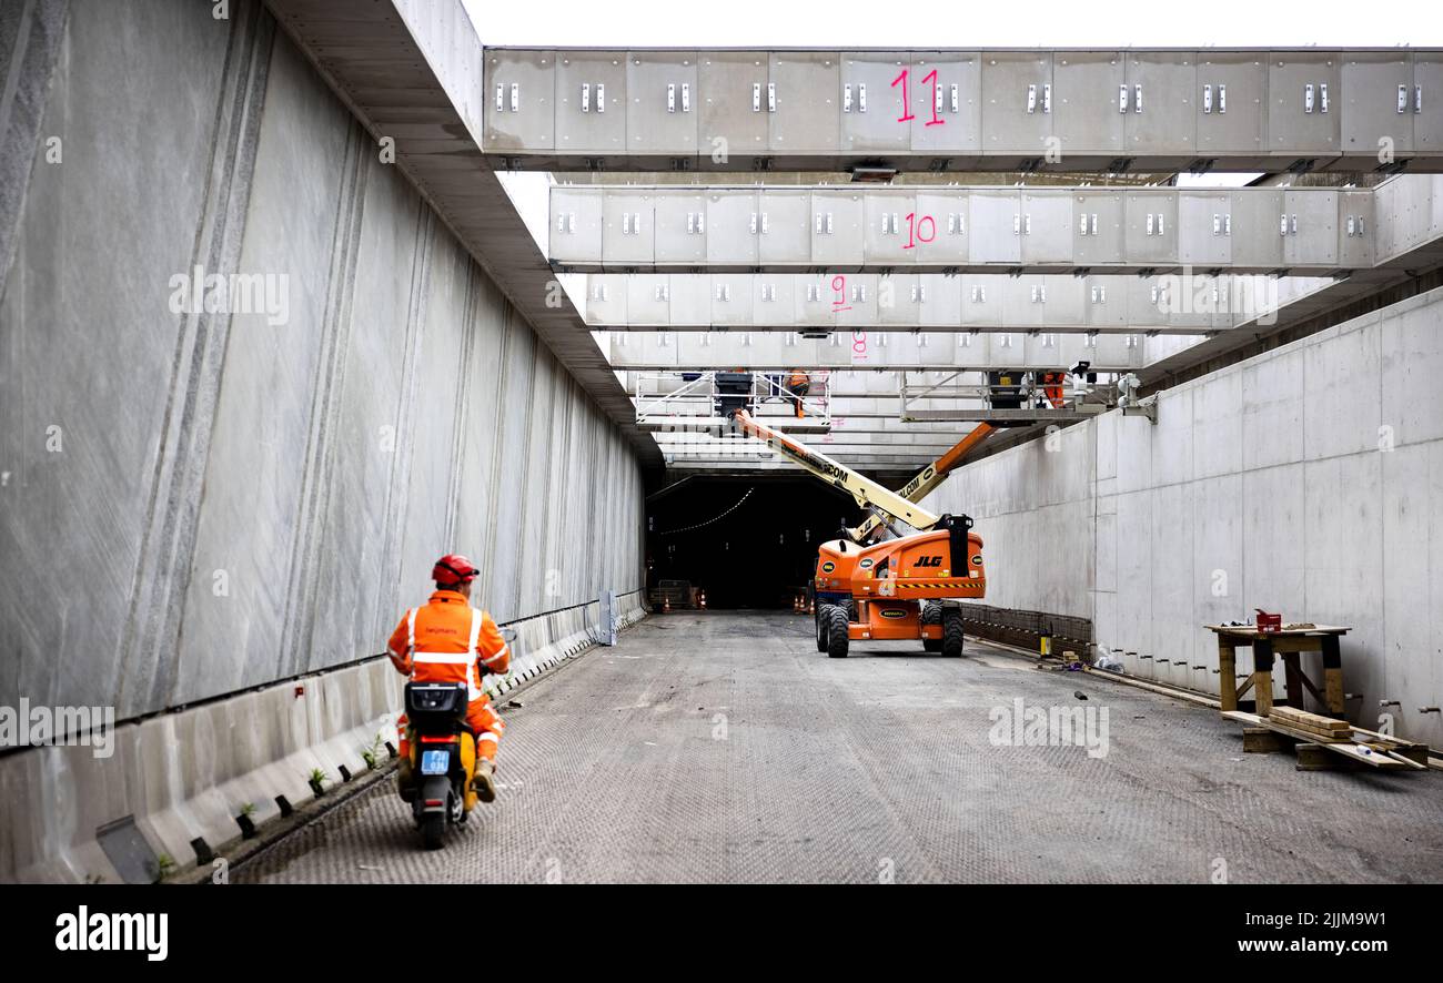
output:
M967 382L968 376L980 382ZM958 370L938 379L903 372L902 422L1040 422L1097 415L1117 405L1114 383L1085 382L1065 369Z

